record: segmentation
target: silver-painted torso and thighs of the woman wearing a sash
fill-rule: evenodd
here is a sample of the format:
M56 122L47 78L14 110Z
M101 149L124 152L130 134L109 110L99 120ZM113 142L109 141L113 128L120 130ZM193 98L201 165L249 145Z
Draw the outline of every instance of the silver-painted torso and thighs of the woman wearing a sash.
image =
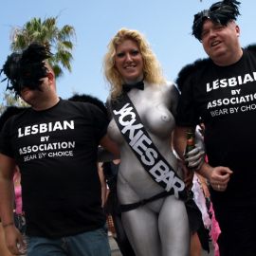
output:
M156 148L178 172L171 146L175 126L174 112L178 101L177 89L170 83L144 84L144 90L132 89L128 96ZM119 144L120 149L120 204L136 203L163 192L164 189L143 169L119 132L114 119L109 123L108 136ZM174 195L123 212L122 222L137 256L189 255L190 232L187 211L183 201L176 199Z

